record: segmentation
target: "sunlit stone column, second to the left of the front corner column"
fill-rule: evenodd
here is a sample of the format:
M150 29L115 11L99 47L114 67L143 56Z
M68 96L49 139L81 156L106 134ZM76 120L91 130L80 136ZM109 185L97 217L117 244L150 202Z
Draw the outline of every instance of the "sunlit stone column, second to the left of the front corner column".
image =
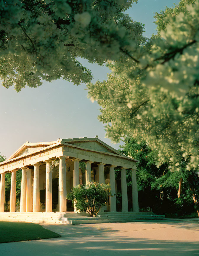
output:
M34 165L34 178L33 178L33 212L40 212L40 198L39 198L39 166Z

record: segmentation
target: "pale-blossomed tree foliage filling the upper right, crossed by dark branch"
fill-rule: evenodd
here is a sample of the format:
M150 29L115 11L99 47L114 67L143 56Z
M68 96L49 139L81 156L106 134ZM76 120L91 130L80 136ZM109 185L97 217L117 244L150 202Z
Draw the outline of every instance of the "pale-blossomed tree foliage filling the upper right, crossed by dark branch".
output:
M199 164L199 1L180 1L169 10L161 16L166 25L159 25L160 36L140 36L136 51L107 64L107 81L87 87L113 142L145 140L160 164L179 171L185 159L191 171Z

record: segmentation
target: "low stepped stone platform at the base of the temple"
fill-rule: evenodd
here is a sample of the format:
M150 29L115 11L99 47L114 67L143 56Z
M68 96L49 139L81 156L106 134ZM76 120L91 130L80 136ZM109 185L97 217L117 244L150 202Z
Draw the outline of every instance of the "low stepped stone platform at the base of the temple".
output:
M0 221L51 223L51 224L89 224L111 222L135 222L142 220L162 220L165 215L153 212L103 212L92 218L86 212L0 212Z

